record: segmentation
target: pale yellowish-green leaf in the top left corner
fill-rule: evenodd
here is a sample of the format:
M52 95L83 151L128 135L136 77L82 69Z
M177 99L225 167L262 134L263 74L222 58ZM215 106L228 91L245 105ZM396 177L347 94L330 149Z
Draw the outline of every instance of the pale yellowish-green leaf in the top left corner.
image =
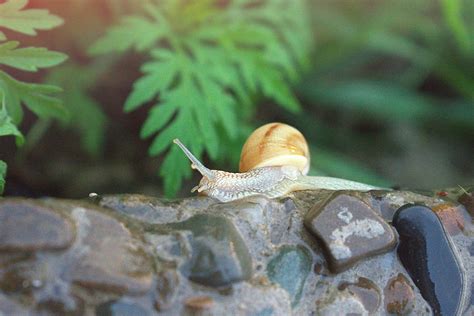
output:
M63 20L48 10L26 9L28 0L7 0L0 4L0 27L27 35L36 35L36 30L50 30Z

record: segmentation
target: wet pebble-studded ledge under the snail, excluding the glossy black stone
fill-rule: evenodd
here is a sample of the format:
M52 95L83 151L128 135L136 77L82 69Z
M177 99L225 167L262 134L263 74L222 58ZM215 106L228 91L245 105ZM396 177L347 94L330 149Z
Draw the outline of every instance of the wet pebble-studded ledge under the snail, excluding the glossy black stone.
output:
M457 198L0 199L0 315L431 315L390 222L407 203L437 209L472 289L474 229Z

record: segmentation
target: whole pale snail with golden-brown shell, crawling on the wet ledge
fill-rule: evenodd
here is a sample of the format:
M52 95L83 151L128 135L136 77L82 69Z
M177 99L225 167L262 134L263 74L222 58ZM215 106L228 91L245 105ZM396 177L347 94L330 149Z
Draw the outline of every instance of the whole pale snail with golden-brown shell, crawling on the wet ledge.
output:
M308 144L297 129L283 123L269 123L256 129L245 142L239 173L205 167L180 141L174 139L191 161L191 168L203 176L191 192L229 202L249 196L276 198L299 190L358 190L382 188L331 177L307 176L310 165Z

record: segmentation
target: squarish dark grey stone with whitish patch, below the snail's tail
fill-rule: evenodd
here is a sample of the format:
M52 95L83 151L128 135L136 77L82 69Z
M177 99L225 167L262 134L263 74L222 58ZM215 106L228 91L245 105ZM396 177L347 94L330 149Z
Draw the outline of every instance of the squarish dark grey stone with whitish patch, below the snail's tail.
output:
M395 246L391 227L364 202L338 193L316 204L305 226L322 242L332 272L341 272L361 259Z

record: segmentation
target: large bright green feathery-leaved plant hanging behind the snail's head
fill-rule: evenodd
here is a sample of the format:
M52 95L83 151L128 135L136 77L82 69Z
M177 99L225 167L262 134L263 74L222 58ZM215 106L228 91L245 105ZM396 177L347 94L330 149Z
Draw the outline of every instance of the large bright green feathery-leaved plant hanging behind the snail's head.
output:
M143 14L112 26L90 48L92 55L145 52L149 56L125 101L125 111L154 102L140 136L156 135L149 154L159 155L180 138L200 158L227 155L222 143L238 143L256 96L297 112L290 89L308 65L311 29L302 0L149 1ZM190 176L176 146L160 168L165 193Z

